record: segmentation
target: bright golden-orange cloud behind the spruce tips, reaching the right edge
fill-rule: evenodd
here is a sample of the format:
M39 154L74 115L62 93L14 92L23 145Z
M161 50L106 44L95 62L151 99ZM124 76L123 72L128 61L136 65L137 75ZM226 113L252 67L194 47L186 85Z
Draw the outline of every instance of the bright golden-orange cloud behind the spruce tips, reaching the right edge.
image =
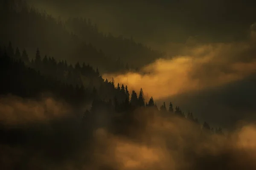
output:
M251 26L251 40L256 40L254 27ZM154 99L216 88L256 72L256 43L251 40L186 44L172 59L158 59L138 73L105 74L103 77L114 77L116 83L124 83L136 91L143 88Z

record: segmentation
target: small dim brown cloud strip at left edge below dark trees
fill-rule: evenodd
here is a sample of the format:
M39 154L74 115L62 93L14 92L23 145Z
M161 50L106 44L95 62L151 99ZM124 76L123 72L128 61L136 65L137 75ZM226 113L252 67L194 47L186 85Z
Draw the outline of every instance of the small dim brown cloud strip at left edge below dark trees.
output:
M26 125L47 122L70 114L71 108L51 97L23 99L17 96L0 97L0 122L4 125Z

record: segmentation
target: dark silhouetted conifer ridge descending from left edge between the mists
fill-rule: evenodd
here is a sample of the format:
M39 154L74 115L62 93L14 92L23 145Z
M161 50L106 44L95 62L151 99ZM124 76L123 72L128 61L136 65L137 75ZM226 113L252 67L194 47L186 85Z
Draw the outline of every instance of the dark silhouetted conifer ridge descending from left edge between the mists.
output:
M0 94L14 94L24 98L38 98L41 93L51 92L56 98L64 99L72 105L91 103L91 109L85 111L84 117L97 113L121 113L122 120L137 108L159 112L163 116L175 115L199 124L193 113L184 112L172 102L166 106L163 102L158 109L153 97L145 102L143 89L139 95L128 90L128 86L114 85L114 79L103 79L99 70L91 65L77 62L74 66L65 60L56 61L54 57L41 58L39 49L31 60L25 49L13 49L10 42L7 48L0 48ZM94 113L94 114L92 114ZM126 115L126 116L125 116ZM130 118L129 118L130 119ZM91 121L90 121L91 122ZM120 122L120 120L119 120ZM122 122L122 121L121 121ZM204 122L203 128L213 132L213 128ZM222 133L219 127L215 133Z

